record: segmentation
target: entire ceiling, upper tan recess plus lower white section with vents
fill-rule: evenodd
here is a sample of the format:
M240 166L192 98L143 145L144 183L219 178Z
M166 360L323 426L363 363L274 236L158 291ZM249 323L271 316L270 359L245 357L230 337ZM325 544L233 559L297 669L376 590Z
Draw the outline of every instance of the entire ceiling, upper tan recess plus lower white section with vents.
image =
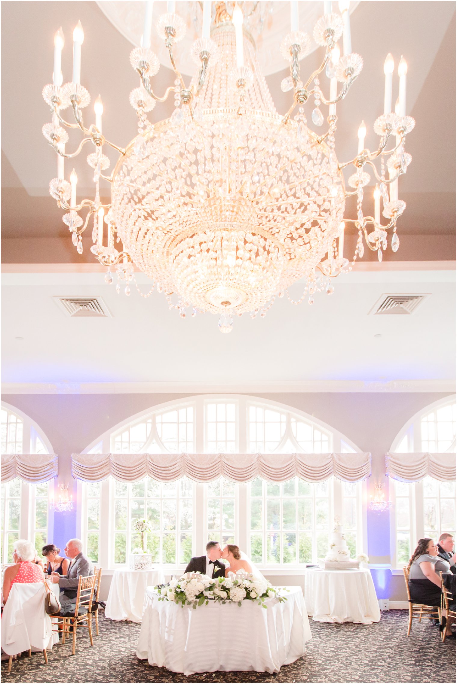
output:
M42 124L49 121L41 90L51 80L53 34L62 25L66 38L62 69L67 81L71 34L78 19L85 34L81 80L92 101L101 94L103 133L120 145L135 135L135 112L128 97L138 86L138 78L129 64L131 44L98 5L89 1L3 0L3 261L29 263L16 269L22 272L11 272L14 267L10 264L10 272L2 276L3 382L452 382L454 272L446 267L430 270L425 261L422 269L406 270L398 265L397 270L389 270L395 264L389 262L386 252L376 271L340 276L335 293L318 295L314 306L306 302L293 306L286 298L276 300L265 319L235 319L229 335L220 334L217 319L211 315L181 320L176 311L168 311L163 295L155 293L144 300L133 290L129 298L118 296L100 273L77 273L75 268L51 263L41 266L40 273L34 272L33 263L44 261L42 256L34 257L40 240L51 244L51 239L62 237L71 256L62 252L60 261L79 259L62 223L62 211L49 196L55 153L41 133ZM399 222L399 233L410 241L413 236L427 237L428 244L442 240L449 245L456 228L455 23L454 2L361 1L351 16L351 28L352 47L363 56L364 68L338 119L340 160L354 156L356 130L362 119L367 123L367 144L374 147L372 124L382 111L384 58L389 51L396 63L401 54L406 57L407 110L417 125L407 139L413 163L400 179L399 195L408 207ZM185 54L178 53L178 64L185 59ZM319 51L315 51L301 62L302 70L311 73L318 59ZM267 77L278 111L289 107L290 93L284 94L279 87L285 75L287 70ZM172 79L170 70L161 67L155 77L156 90L164 92ZM158 104L151 120L169 116L172 106L170 102ZM92 107L86 110L89 120L92 111ZM70 137L67 149L77 144L77 136ZM75 161L78 191L92 196L86 155L82 157ZM116 161L113 156L111 159ZM67 176L72 166L66 163ZM107 194L107 189L104 192ZM13 242L15 257L10 259L6 246ZM89 243L90 238L85 259ZM407 244L405 239L395 257L403 249L403 258L408 260ZM434 257L423 255L424 260L430 258ZM443 259L455 259L454 252ZM53 261L49 254L49 262ZM138 280L147 291L141 274ZM410 316L369 315L382 293L430 297ZM292 294L300 297L298 286ZM99 295L112 317L66 318L53 301L57 295Z

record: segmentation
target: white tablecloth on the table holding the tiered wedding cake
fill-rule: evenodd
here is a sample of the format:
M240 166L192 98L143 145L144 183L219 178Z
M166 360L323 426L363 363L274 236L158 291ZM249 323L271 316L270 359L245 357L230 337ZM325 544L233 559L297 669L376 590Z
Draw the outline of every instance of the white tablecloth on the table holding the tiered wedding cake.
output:
M381 612L368 569L306 570L304 600L318 622L379 622Z

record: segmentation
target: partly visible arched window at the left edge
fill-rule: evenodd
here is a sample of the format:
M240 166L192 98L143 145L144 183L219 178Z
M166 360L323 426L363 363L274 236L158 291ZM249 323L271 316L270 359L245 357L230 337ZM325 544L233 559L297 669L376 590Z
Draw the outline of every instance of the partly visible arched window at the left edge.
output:
M47 436L27 415L1 404L1 453L52 453ZM49 482L28 484L16 477L1 484L1 562L12 563L14 542L31 539L40 553L52 536Z

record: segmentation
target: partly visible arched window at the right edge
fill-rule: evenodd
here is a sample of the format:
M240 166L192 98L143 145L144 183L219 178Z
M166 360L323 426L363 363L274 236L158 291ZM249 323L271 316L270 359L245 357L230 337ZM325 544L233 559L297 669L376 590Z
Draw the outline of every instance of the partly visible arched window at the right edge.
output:
M456 449L456 397L446 397L419 411L400 430L390 451L439 452ZM391 479L392 565L406 564L418 539L456 534L456 483L425 477L408 484Z

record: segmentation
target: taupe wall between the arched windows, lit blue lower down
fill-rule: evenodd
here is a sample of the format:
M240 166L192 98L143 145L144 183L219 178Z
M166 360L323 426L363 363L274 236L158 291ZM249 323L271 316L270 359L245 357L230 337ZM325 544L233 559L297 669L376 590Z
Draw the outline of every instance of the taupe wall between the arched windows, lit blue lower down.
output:
M135 413L190 396L194 394L4 395L2 399L29 415L47 434L60 457L59 482L70 483L70 489L73 485L73 499L77 501L76 483L71 477L73 451L82 451L103 432ZM374 485L384 478L384 454L404 423L417 411L449 393L266 393L255 396L304 411L339 430L361 451L371 451L369 497L374 492ZM55 514L55 544L63 548L66 540L76 535L76 520L77 505L72 512ZM393 576L389 568L385 568L391 560L389 512L368 511L367 536L370 564L381 566L372 570L378 598L405 601L403 577ZM275 579L276 583L278 579ZM288 577L287 583L291 580ZM106 578L103 582L104 592L108 581ZM302 584L302 581L302 577L296 578L293 583Z

